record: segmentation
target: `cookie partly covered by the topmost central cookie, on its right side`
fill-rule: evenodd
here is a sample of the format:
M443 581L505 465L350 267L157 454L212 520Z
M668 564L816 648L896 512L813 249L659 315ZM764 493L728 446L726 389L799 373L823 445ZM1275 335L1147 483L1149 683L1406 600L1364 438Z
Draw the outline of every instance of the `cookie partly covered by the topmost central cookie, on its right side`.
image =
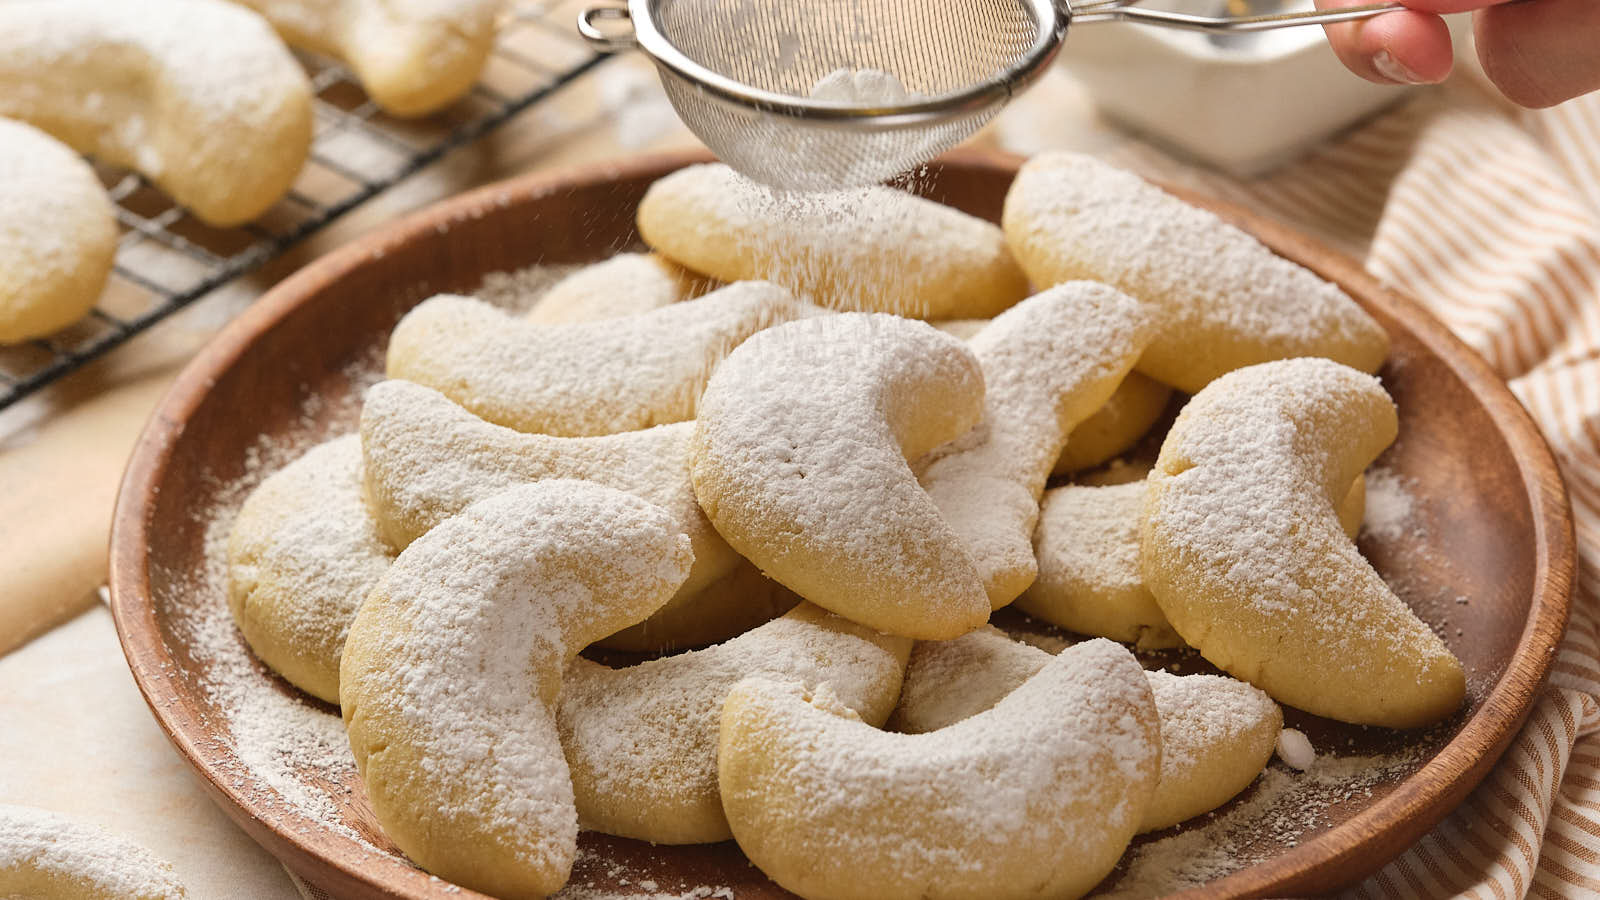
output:
M1014 601L1038 572L1038 498L1067 436L1139 359L1155 325L1136 299L1093 282L1030 296L968 346L984 372L984 418L934 452L922 485L962 538L989 602Z

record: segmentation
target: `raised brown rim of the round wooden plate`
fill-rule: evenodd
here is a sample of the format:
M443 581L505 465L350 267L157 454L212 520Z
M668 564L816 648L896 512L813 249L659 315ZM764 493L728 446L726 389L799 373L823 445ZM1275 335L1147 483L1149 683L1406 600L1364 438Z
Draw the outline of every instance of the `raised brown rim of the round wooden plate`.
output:
M160 701L162 693L181 692L174 690L173 682L178 679L173 676L173 657L160 637L155 607L150 602L150 578L146 567L150 546L147 522L162 476L171 463L187 420L205 402L216 376L248 352L261 335L317 296L325 285L370 264L374 256L403 247L424 232L472 218L475 210L485 207L533 203L542 195L576 184L648 173L664 175L710 160L706 151L677 151L562 167L477 187L408 213L326 253L267 290L184 365L152 412L134 444L112 514L109 586L117 637L141 697L179 756L197 770L202 785L224 812L298 874L317 881L318 886L331 879L328 887L342 882L392 897L445 897L440 890L445 882L429 881L426 873L408 863L382 857L382 865L373 865L370 855L357 858L346 846L347 839L341 838L336 844L330 844L330 833L298 810L293 815L314 825L312 830L291 831L283 822L256 817L251 812L256 804L214 769L211 754L187 733L182 722L176 721L174 706ZM1024 157L989 149L962 149L946 154L941 162L1014 175ZM1523 495L1531 511L1534 575L1530 615L1506 673L1494 682L1461 732L1390 794L1339 826L1270 860L1171 897L1190 900L1326 890L1376 871L1454 810L1488 775L1531 713L1555 663L1555 649L1565 634L1574 589L1576 536L1566 487L1555 456L1531 415L1488 362L1419 301L1389 288L1349 256L1288 224L1195 191L1170 184L1162 187L1243 227L1275 253L1290 256L1326 280L1381 295L1386 311L1456 375L1494 421L1522 476ZM227 754L232 756L232 751ZM1453 777L1443 780L1443 775ZM1381 841L1398 844L1398 849L1394 854L1374 855L1374 844ZM315 871L304 871L306 865ZM410 873L413 878L392 879L390 871ZM483 895L459 889L450 897Z

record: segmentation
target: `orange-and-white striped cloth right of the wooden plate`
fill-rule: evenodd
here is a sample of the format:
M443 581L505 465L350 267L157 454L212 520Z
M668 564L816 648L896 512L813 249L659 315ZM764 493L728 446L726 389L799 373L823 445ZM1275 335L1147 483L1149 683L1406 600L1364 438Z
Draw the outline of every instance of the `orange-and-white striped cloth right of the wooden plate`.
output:
M1530 112L1461 78L1251 181L1114 155L1421 299L1509 381L1571 492L1579 586L1550 685L1467 802L1347 895L1600 897L1600 94Z

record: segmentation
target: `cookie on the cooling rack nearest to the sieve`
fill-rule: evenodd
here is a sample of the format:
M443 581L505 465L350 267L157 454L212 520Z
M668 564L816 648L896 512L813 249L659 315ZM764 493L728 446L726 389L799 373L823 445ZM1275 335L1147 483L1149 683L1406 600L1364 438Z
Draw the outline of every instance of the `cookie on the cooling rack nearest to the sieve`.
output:
M390 115L427 115L472 88L502 0L234 0L283 40L346 62Z

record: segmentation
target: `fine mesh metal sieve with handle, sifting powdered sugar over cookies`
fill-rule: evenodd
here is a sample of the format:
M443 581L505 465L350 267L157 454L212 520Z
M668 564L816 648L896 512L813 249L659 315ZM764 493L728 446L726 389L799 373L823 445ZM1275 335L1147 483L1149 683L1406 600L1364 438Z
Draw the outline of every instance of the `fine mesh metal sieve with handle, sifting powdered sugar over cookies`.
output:
M1326 24L1400 3L1192 16L1128 0L627 0L579 14L608 51L656 61L678 117L723 162L792 191L875 184L978 131L1054 59L1067 22L1238 32ZM632 24L632 34L616 26ZM909 93L816 99L824 77L888 72Z

